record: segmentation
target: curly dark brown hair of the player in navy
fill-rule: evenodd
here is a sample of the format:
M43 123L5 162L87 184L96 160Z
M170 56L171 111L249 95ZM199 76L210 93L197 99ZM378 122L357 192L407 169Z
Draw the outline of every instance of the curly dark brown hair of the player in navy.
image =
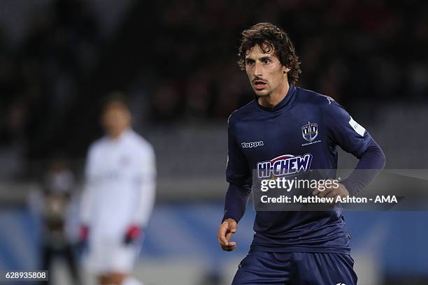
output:
M259 45L263 52L273 50L283 66L290 68L288 81L296 84L299 80L300 61L294 45L285 31L271 23L258 23L242 32L241 45L238 47L238 66L245 70L245 52Z

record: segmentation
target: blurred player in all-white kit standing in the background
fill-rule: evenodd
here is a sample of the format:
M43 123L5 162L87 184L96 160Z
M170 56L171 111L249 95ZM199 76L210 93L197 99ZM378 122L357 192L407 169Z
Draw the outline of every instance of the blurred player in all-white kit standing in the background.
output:
M131 112L120 94L106 101L101 124L106 136L90 146L85 168L85 265L101 285L141 284L129 273L155 202L155 152L131 129Z

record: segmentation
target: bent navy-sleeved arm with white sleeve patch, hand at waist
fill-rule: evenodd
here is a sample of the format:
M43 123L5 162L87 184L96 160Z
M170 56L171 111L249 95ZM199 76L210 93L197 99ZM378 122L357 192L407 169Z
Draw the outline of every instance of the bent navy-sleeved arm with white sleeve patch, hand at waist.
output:
M385 154L369 132L335 101L324 105L324 123L330 145L338 145L359 159L355 170L337 188L315 190L320 197L354 196L385 167Z

